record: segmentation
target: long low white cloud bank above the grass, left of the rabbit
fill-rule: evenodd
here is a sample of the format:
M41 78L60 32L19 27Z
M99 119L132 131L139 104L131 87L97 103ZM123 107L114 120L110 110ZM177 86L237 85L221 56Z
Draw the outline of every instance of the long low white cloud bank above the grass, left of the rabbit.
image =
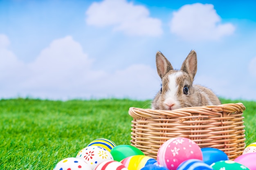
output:
M93 64L71 36L54 40L29 64L18 61L11 51L7 51L0 57L0 68L5 66L0 71L0 98L148 99L153 98L158 90L156 71L149 66L135 64L115 73L107 73L94 70Z

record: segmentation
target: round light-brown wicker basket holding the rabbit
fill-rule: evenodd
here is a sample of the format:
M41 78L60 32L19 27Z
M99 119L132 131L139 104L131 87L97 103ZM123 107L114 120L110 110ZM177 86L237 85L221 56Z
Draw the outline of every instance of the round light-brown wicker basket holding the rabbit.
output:
M200 148L218 148L233 160L245 148L244 110L242 103L176 110L131 107L131 145L156 158L165 141L173 137L187 137Z

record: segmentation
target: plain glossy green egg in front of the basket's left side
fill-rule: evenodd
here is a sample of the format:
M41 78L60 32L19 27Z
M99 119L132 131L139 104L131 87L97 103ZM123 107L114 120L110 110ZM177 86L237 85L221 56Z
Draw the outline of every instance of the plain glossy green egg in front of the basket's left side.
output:
M144 155L144 153L131 145L118 145L111 150L111 155L115 161L121 161L127 157L134 155Z

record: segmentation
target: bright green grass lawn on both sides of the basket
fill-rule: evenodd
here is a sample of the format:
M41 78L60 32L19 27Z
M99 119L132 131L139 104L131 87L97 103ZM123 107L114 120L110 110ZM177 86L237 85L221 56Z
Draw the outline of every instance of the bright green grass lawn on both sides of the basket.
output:
M243 102L247 144L256 141L256 102ZM129 99L50 101L0 100L0 170L52 170L58 161L75 157L90 141L111 139L130 144L130 107L149 101Z

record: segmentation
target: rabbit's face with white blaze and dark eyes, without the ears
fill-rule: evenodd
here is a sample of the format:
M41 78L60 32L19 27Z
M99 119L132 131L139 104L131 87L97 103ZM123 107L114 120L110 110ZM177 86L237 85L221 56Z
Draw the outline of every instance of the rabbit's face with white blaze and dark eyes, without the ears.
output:
M162 78L162 89L159 91L159 108L173 110L189 106L192 82L183 71L172 70Z

